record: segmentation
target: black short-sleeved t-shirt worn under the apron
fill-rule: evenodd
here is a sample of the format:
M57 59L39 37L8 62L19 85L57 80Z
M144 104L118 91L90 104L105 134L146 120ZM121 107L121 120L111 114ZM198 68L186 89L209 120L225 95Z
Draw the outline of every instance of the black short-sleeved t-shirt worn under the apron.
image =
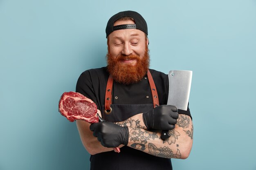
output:
M150 73L157 88L159 105L167 104L169 91L168 75L152 69L150 69ZM104 111L103 105L105 102L108 77L109 73L106 67L90 69L80 75L76 84L76 92L92 99L98 109L101 110L101 113ZM114 81L112 104L153 104L147 75L137 84L123 85ZM179 110L178 113L191 117L189 107L186 111Z

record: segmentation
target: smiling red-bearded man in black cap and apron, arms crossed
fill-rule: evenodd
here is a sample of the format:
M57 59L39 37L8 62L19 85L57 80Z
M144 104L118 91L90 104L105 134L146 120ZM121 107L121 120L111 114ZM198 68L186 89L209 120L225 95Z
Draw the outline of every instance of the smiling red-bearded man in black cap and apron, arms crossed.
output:
M106 27L108 66L87 70L78 79L76 92L92 99L106 120L92 125L76 121L92 170L171 170L170 158L189 156L189 108L178 114L175 106L166 105L168 76L148 69L147 35L139 13L113 15ZM161 139L162 130L171 137ZM120 153L113 151L118 146Z

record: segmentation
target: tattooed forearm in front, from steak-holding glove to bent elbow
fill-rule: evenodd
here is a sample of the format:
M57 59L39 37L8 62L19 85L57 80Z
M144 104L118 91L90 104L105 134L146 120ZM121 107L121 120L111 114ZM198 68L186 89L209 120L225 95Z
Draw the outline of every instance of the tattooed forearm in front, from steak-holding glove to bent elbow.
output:
M189 120L191 121L190 117ZM162 140L160 137L162 130L147 131L128 127L127 146L157 157L186 159L193 142L193 140L188 140L188 133L191 134L189 137L193 137L192 121L188 128L183 127L177 125L175 129L169 130L170 137L167 140Z

